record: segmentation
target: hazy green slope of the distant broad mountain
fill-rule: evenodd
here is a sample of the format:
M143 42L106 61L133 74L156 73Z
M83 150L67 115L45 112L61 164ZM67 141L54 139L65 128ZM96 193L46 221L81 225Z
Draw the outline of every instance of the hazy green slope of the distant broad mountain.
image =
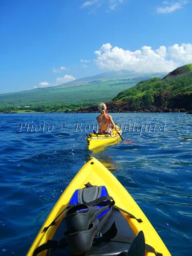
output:
M0 106L34 106L39 104L73 104L108 101L120 91L135 86L138 81L157 74L107 72L93 77L77 79L60 86L38 88L22 92L0 94Z

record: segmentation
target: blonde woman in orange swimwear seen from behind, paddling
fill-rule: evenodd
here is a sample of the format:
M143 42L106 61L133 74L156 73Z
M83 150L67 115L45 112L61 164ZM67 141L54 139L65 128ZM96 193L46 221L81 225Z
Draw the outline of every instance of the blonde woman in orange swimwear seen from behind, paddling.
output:
M106 114L106 105L105 103L100 103L98 106L100 116L97 117L97 122L99 124L99 134L111 134L113 135L112 128L110 123L113 125L113 129L115 129L116 125L112 119L111 115Z

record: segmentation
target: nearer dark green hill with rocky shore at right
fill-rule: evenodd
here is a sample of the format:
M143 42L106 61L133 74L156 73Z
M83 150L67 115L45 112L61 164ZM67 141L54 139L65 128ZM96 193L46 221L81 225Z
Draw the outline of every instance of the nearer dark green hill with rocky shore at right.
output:
M185 109L192 110L192 64L177 68L164 78L140 81L135 87L120 92L112 100L120 101L127 110Z

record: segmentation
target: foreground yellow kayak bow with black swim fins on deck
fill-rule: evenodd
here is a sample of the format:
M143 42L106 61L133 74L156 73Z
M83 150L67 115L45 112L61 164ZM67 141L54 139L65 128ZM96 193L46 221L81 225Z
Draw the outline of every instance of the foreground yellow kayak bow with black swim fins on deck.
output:
M87 185L86 188L84 184ZM89 200L87 200L87 203L85 203L86 197L89 197L89 193L87 193L86 195L86 190L83 190L83 189L91 189L90 191L92 190L96 191L100 189L100 187L102 187L102 189L104 187L107 190L109 196L107 197L97 196L96 197L97 199L93 200L90 204L89 204L90 202ZM84 199L83 199L84 204L79 205L77 201L74 203L74 200L76 200L74 199L74 195L76 194L76 191L77 193L79 193L79 191L83 191L81 194L83 195L84 193ZM112 213L111 215L109 215L108 219L101 220L104 223L102 224L101 229L98 229L96 233L92 233L94 234L94 237L92 237L92 240L90 242L91 247L89 251L86 251L85 248L82 248L81 242L83 243L83 241L86 241L83 239L88 239L88 236L86 233L87 229L88 231L92 230L92 228L96 223L97 224L99 223L99 225L101 224L101 222L98 221L98 219L101 217L98 217L97 215L97 218L94 219L91 216L91 224L89 224L89 227L87 228L83 226L83 225L86 225L84 224L85 223L84 221L80 223L83 226L83 228L81 228L78 225L78 228L81 230L80 232L74 232L72 230L75 225L74 224L75 222L73 223L73 217L77 218L76 221L78 222L80 218L84 218L87 216L87 214L89 214L89 211L81 212L82 205L83 206L85 204L93 205L93 202L96 203L96 201L101 199L103 200L103 203L104 202L106 203L106 201L108 201L108 198L110 198L109 199L109 202L111 203L110 211ZM69 205L69 202L70 204L73 205L73 207ZM74 206L75 204L76 206ZM70 214L70 211L73 208L76 209L77 207L80 210L76 210L75 214ZM88 207L89 209L95 210L95 212L97 212L97 210L101 211L103 209L102 207L108 207L108 206L99 206L99 207L94 206L95 208L93 206L86 206L86 207ZM108 213L109 211L106 213L106 210L105 210L105 212L102 214L107 215ZM78 219L78 216L80 216L79 219ZM72 218L72 219L70 219L71 221L67 223L67 220L69 220L69 218ZM66 229L67 224L70 226L69 229L68 228ZM109 227L106 228L107 226ZM70 231L70 229L72 231ZM78 239L76 239L77 238L76 235ZM68 243L65 242L67 238L68 238L67 240ZM86 245L87 244L88 243L86 243ZM136 246L135 247L132 246L133 244ZM71 247L69 248L69 246L71 246L72 248ZM76 248L74 249L73 246L74 247L76 246ZM39 230L33 244L31 245L31 248L27 253L27 256L32 256L32 255L33 256L36 256L36 255L37 256L69 255L70 256L70 255L74 255L73 249L75 251L75 254L82 254L81 251L79 252L78 250L85 250L83 255L90 255L90 256L91 255L92 256L93 255L94 256L96 255L97 256L99 255L168 256L170 255L168 249L162 242L156 230L154 229L150 221L148 221L148 219L143 214L142 210L139 208L139 206L131 197L131 195L126 191L126 189L121 185L121 183L115 178L115 176L95 158L91 158L89 161L84 163L84 165L79 170L77 175L73 178L71 183L63 192L63 194L61 195L61 197L53 207L52 211L50 212L47 220ZM140 254L136 254L136 252L134 253L133 250L135 249L136 250L138 249ZM132 254L131 254L131 251L132 251ZM142 251L144 252L142 253Z

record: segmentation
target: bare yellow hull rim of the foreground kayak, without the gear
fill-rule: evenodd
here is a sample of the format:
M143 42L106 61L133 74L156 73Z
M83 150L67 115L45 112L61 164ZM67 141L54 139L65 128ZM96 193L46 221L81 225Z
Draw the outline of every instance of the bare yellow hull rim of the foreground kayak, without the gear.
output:
M50 212L47 220L44 225L42 225L39 230L31 248L29 249L27 256L32 256L35 248L46 243L48 240L52 239L54 233L56 232L59 224L63 219L63 214L57 218L55 225L50 226L49 229L45 232L44 228L49 226L52 221L59 216L59 214L66 208L70 198L72 197L74 190L78 188L83 188L84 184L90 182L92 185L104 185L108 190L108 193L115 200L115 205L124 209L125 211L131 212L136 218L142 219L142 222L139 223L136 219L129 217L128 215L121 212L125 220L129 223L132 230L135 234L138 234L139 231L143 231L145 237L145 243L151 245L155 248L156 251L163 254L163 256L169 256L170 253L167 250L166 246L162 242L158 233L148 221L146 216L143 214L142 210L136 204L131 195L126 191L126 189L121 185L121 183L115 178L115 176L106 169L97 159L91 158L86 162L82 168L79 170L77 175L73 178L71 183L68 185L66 190L63 192L52 211ZM47 251L42 251L38 256L47 255ZM145 251L145 256L155 255L152 252Z

